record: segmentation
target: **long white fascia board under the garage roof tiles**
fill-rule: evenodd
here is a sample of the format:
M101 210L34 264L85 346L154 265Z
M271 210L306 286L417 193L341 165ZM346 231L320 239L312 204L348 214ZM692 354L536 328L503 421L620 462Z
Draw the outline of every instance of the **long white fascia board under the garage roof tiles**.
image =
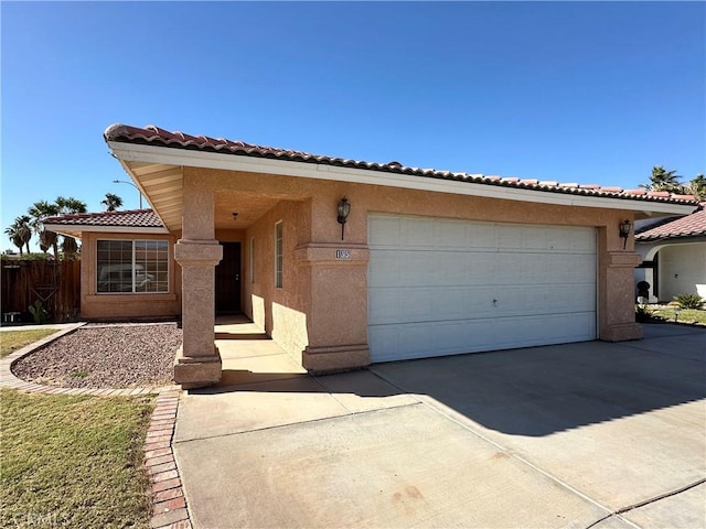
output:
M336 182L382 185L387 187L431 191L436 193L484 196L488 198L500 198L506 201L648 212L649 214L665 213L687 215L696 207L695 205L665 204L656 201L642 202L630 198L608 198L575 195L569 193L543 192L536 190L518 190L480 184L475 182L457 182L398 173L383 173L367 169L341 168L322 163L271 160L267 158L193 151L160 145L142 145L119 141L108 141L108 147L120 162L139 161L227 171L244 171L250 173L280 174L285 176L332 180ZM124 166L126 164L124 163ZM384 182L382 181L383 179Z

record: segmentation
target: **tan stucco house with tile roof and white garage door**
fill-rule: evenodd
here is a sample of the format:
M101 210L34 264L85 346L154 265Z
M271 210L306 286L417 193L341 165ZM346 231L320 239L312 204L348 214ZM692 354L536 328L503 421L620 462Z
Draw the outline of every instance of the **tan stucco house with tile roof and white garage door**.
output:
M697 206L668 193L344 160L151 126L114 125L105 140L152 212L125 212L127 224L109 229L74 227L82 310L180 311L174 376L184 388L221 378L220 311L242 311L313 373L640 338L631 227ZM126 266L142 268L126 280Z

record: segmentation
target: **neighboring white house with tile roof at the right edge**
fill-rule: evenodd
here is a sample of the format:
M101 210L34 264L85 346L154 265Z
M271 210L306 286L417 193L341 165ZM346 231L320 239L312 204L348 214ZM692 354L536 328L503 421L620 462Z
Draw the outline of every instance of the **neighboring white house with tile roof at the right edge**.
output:
M687 216L635 225L635 251L642 257L635 283L650 283L650 303L670 302L677 294L706 299L705 205Z

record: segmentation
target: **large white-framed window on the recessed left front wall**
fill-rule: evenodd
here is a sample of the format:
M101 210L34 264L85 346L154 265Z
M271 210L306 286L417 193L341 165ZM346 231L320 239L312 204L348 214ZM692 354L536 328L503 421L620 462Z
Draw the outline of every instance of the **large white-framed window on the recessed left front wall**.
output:
M96 257L99 293L169 292L165 240L98 240Z

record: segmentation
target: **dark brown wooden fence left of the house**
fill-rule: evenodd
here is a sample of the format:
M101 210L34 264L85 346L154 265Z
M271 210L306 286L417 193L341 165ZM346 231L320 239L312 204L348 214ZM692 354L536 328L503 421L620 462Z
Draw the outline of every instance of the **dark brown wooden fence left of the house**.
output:
M2 260L2 321L34 322L29 311L38 300L49 322L78 320L81 261ZM19 314L18 314L19 313Z

